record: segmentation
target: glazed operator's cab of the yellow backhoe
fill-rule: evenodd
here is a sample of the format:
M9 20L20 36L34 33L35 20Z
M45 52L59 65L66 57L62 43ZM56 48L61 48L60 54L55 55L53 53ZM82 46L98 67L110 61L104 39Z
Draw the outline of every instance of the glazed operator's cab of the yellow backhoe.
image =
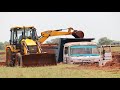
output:
M34 27L14 27L11 28L10 45L15 45L20 49L21 41L24 39L37 39L36 29Z

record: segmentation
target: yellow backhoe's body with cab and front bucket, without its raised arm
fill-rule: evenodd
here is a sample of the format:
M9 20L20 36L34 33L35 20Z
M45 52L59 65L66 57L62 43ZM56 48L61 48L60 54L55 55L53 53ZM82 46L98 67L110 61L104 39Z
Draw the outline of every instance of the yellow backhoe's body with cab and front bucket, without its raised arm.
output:
M36 29L33 26L13 27L10 32L10 45L6 46L7 66L56 65L54 54L41 51Z

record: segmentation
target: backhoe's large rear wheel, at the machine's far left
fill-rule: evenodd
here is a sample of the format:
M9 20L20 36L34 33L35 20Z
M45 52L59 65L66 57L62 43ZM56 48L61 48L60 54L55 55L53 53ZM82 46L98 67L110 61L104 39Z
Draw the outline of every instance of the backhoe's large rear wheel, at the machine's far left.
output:
M13 67L15 64L13 60L13 55L10 48L6 49L6 66Z

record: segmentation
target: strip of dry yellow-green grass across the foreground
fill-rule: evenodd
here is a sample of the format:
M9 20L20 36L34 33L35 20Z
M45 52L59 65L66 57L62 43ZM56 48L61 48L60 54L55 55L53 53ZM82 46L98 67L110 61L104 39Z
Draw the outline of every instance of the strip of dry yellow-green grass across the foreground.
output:
M120 78L120 69L93 69L59 64L46 67L0 67L0 78Z

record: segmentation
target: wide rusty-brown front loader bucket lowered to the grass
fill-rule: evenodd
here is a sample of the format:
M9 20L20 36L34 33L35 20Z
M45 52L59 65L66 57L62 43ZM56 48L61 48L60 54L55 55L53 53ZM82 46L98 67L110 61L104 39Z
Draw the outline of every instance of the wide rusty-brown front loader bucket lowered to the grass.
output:
M51 66L57 65L55 54L41 53L22 56L22 66Z

